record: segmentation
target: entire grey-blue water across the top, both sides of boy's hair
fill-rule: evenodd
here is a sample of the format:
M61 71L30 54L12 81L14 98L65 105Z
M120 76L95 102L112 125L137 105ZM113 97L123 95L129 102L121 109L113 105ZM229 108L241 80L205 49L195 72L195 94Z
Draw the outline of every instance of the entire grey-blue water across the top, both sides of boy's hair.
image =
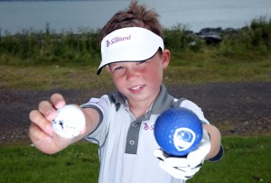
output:
M242 28L253 19L271 17L271 0L138 0L160 15L164 28ZM0 0L0 35L25 30L82 32L97 30L130 0Z

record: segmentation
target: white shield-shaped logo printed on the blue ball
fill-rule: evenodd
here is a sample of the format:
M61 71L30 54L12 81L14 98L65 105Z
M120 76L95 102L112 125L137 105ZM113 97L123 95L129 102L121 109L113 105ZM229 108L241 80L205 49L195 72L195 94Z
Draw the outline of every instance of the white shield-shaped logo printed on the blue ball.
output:
M177 151L189 149L195 142L196 134L189 128L178 128L173 134L173 144Z

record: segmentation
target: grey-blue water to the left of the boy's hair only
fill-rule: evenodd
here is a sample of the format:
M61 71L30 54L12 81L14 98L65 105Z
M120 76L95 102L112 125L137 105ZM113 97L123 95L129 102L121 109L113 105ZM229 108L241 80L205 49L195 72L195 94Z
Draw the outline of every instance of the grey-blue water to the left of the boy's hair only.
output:
M51 29L57 32L97 29L128 4L125 1L0 2L0 27L2 32L44 30L49 23Z

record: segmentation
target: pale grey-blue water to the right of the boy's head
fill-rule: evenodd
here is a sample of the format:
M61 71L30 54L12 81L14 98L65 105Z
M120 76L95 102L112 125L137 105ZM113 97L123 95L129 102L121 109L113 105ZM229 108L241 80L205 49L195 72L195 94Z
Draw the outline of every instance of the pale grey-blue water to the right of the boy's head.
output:
M199 32L206 27L241 28L260 16L271 17L270 0L146 0L147 5L157 6L165 27L176 23L187 24ZM154 3L156 2L156 3Z

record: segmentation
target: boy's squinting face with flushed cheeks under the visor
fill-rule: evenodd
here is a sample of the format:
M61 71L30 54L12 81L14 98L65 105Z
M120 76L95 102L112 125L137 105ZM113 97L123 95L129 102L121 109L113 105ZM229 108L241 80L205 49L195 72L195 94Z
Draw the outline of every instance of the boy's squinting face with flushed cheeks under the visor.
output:
M107 71L119 92L129 103L146 102L151 104L158 96L163 80L163 69L168 66L170 51L157 52L153 58L138 62L111 63Z

